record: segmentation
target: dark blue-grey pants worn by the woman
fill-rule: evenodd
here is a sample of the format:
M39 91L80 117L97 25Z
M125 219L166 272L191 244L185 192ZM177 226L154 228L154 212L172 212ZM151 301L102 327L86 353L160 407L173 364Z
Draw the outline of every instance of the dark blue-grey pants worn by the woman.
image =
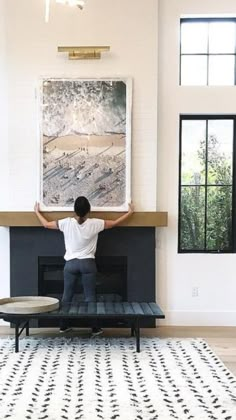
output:
M72 301L78 276L81 274L85 302L96 301L96 273L97 267L94 258L66 261L64 267L63 303Z

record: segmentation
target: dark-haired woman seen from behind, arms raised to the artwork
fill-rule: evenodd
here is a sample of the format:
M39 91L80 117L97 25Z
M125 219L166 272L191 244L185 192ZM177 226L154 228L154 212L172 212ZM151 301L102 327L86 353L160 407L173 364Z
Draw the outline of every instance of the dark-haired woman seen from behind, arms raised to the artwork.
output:
M116 220L102 220L89 218L90 203L86 197L80 196L74 203L74 217L49 222L40 212L39 203L35 203L34 210L40 223L47 229L59 229L63 232L65 241L65 267L64 267L64 292L62 302L71 303L78 276L81 275L85 302L96 301L96 263L95 252L98 234L104 229L111 229L128 219L134 211L129 204L127 213ZM63 322L61 332L69 331ZM102 330L93 328L93 335L98 335Z

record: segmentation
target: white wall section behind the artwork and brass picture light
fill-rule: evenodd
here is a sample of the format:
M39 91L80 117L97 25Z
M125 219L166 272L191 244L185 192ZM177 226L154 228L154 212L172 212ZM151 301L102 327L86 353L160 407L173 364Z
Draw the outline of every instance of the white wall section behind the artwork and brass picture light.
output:
M0 211L32 211L37 198L35 92L42 76L133 79L132 197L137 210L155 211L158 2L88 0L83 12L51 4L46 24L44 0L0 0L0 88L8 86L0 95L1 179L9 169L0 184ZM111 52L101 60L69 61L57 53L59 45L110 45ZM0 231L3 294L9 286L8 240L8 231Z

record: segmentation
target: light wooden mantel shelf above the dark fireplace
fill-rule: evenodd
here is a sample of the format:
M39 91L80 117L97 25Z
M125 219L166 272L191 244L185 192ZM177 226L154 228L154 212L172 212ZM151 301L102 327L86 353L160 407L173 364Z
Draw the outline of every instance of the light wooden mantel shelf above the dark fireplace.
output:
M91 212L91 217L114 220L122 213ZM59 220L73 217L73 212L43 212L47 220ZM168 224L167 212L135 212L122 226L165 227ZM0 212L0 226L41 226L34 212Z

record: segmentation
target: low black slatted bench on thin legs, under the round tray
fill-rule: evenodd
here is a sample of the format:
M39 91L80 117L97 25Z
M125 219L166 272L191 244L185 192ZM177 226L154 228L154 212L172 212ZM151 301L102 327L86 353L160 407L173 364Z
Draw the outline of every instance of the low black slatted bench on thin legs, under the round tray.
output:
M0 313L0 318L10 322L15 327L15 352L19 351L19 337L26 331L29 336L29 321L31 319L56 320L91 320L91 325L103 319L125 319L130 328L131 335L136 337L136 351L140 352L140 321L143 319L163 319L160 307L155 302L77 302L63 304L52 312L34 314L6 314Z

